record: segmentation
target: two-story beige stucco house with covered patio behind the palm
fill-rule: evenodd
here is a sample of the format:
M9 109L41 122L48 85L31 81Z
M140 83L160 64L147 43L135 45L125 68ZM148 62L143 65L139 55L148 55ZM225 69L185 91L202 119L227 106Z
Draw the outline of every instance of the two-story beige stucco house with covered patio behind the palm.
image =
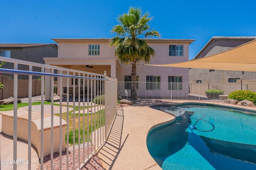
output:
M44 58L45 64L98 74L104 74L106 71L108 76L117 78L119 82L130 82L132 66L116 59L115 47L109 46L109 40L106 38L53 39L58 43L58 58ZM146 41L155 50L150 64L168 64L188 61L189 44L194 39L147 39ZM188 68L142 64L137 65L139 82L188 82ZM66 86L65 82L63 86ZM159 90L158 88L154 86L154 89L150 90Z

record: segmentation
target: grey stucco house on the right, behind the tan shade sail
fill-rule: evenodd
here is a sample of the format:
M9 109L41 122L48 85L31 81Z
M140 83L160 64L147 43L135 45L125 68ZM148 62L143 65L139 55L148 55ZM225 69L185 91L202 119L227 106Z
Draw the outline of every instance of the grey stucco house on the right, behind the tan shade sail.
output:
M212 37L208 43L201 49L201 51L194 57L200 59L210 55L232 49L249 41L256 39L256 37ZM243 56L241 56L243 57ZM237 80L251 80L256 79L255 72L245 71L229 71L229 70L209 70L209 69L189 69L190 83L227 83L236 82Z

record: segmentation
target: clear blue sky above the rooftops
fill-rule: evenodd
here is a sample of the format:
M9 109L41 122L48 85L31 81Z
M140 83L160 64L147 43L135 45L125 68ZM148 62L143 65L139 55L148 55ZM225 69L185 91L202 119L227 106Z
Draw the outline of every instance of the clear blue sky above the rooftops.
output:
M111 38L130 6L150 12L163 39L195 39L192 59L213 36L256 36L255 0L0 0L0 43Z

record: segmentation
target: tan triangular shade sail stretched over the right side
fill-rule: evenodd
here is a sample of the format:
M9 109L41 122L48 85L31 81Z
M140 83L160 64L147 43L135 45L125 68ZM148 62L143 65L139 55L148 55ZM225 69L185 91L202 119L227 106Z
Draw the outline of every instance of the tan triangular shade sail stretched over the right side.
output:
M174 64L145 65L256 72L256 39L201 59Z

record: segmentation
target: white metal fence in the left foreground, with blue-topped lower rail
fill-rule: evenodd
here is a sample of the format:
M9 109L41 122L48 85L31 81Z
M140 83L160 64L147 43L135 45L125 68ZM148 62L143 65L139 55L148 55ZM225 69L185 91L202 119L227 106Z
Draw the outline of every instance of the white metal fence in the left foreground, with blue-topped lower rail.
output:
M10 160L12 165L0 164L0 169L30 170L33 159L32 145L38 151L37 156L40 162L37 159L37 163L41 170L82 168L108 137L116 115L117 80L106 76L106 72L104 75L94 74L5 57L0 57L0 61L14 65L13 69L0 68L1 73L14 75L14 108L8 113L0 111L2 133L13 137L12 153L7 152L5 143L0 141L0 160L7 158L6 155L13 154ZM20 64L27 65L29 69L19 70ZM33 71L38 67L42 70L41 72ZM28 111L22 113L26 116L21 115L18 109L17 87L19 84L17 82L20 74L28 75L29 80L29 86L24 87L24 90L28 89ZM41 76L41 94L45 94L41 96L41 109L38 112L32 110L31 87L35 76ZM54 104L54 78L58 78L60 94L58 106ZM62 91L64 87L65 92ZM43 102L44 97L50 99L49 112ZM6 124L8 128L4 127ZM20 127L27 128L20 129ZM28 144L28 152L23 151L25 153L22 154L28 155L25 158L19 155L18 139L23 139ZM56 155L60 158L58 162L54 162ZM62 160L62 155L66 155L65 160ZM50 161L50 166L47 167L44 166L46 158ZM13 163L20 160L23 160L22 163L25 163L25 166Z

